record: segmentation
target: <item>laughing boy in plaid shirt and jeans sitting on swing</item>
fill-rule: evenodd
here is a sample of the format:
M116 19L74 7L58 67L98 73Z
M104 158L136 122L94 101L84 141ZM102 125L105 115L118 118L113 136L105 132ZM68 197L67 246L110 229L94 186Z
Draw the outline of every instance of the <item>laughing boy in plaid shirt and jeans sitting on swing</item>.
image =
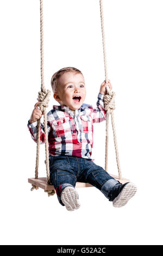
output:
M101 84L97 107L84 104L86 89L83 74L76 68L63 68L52 76L53 97L60 106L53 106L47 113L49 170L58 200L68 211L80 207L77 181L88 182L97 187L113 206L121 207L136 193L131 182L121 184L91 159L93 146L93 123L106 119L104 95L106 86L112 89L110 81ZM28 128L36 142L37 120L42 112L35 104ZM45 133L41 124L40 143Z

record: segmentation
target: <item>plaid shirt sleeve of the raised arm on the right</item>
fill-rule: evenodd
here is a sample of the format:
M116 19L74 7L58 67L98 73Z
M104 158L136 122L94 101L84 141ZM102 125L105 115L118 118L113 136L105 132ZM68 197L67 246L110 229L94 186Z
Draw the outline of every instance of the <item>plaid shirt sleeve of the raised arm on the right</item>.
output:
M93 108L91 113L93 123L100 123L106 119L106 111L104 109L104 95L99 93L96 103L97 107Z

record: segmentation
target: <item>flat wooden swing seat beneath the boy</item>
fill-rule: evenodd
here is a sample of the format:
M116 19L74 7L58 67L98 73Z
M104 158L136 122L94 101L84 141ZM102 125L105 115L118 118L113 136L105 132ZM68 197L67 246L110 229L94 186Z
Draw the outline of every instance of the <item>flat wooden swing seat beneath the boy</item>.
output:
M116 180L120 181L122 184L129 182L128 179L122 178L122 179L118 179L118 176L116 175L112 175L110 174L113 178L115 178ZM38 178L38 179L34 179L34 178L29 178L28 182L32 185L35 185L37 187L42 188L45 191L55 191L54 190L54 186L53 185L49 185L47 184L47 178L46 177L42 177L42 178ZM84 183L84 182L77 182L76 187L92 187L91 184L89 183Z

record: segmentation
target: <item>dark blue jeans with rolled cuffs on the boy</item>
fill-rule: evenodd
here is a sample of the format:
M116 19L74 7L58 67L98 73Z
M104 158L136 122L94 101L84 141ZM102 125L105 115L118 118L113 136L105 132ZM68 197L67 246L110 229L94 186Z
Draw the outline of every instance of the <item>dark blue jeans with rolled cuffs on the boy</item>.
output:
M61 192L67 186L76 186L76 182L86 182L100 190L112 201L111 190L118 184L101 166L93 161L74 156L49 156L51 182L61 205Z

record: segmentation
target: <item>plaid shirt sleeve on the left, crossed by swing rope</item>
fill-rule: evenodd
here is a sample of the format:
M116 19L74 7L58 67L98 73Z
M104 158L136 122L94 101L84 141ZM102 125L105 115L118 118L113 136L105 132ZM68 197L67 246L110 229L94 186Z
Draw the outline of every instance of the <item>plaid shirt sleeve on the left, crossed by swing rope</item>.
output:
M28 130L30 132L30 135L32 137L32 139L34 140L34 142L37 142L37 121L35 121L34 123L30 124L28 121ZM45 143L45 132L44 132L45 126L44 123L41 124L40 127L40 144ZM49 133L51 127L49 126L49 121L47 121L47 131Z

